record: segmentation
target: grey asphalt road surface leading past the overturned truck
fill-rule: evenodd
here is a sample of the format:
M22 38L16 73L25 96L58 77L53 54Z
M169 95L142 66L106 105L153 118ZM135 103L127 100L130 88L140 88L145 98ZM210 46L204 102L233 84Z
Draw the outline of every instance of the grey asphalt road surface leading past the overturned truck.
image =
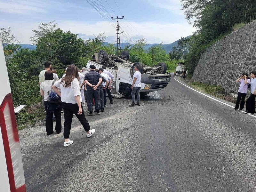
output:
M67 148L62 133L21 130L27 191L256 191L256 118L173 77L159 93L87 116L89 139L74 117Z

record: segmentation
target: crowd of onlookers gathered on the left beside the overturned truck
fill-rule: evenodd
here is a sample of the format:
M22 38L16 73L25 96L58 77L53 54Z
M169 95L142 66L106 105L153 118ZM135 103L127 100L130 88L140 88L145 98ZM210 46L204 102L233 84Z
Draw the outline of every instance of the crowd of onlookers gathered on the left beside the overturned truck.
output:
M92 116L93 106L95 112L100 115L107 108L107 94L110 104L113 104L111 95L111 83L113 75L105 70L106 67L97 69L90 65L90 71L82 68L80 71L76 65L68 65L63 76L59 79L52 63L46 61L45 69L39 74L40 93L43 96L46 111L45 129L47 135L53 133L53 117L55 116L55 131L61 132L61 111L64 113L64 147L68 147L74 141L69 139L73 116L80 121L87 137L94 134L95 129L90 129L90 124L85 118L83 106L86 106ZM129 107L140 106L140 80L139 66L135 66L132 83L132 104ZM135 104L135 94L137 103Z

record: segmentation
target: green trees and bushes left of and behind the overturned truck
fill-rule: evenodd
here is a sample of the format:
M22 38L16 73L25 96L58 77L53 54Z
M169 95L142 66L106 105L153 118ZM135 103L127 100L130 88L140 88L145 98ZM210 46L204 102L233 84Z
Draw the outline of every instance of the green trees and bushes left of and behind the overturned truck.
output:
M4 53L15 106L31 105L42 100L38 75L44 69L44 61L51 61L57 75L61 77L69 64L76 64L80 69L85 67L95 52L104 50L108 54L116 54L114 44L103 44L106 39L104 32L93 39L82 40L77 34L57 28L57 23L54 22L41 23L38 31L33 30L35 36L30 40L36 45L35 50L23 49L19 44L12 44L15 38L11 35L11 29L0 29L1 39L6 45ZM155 46L153 54L147 53L146 44L145 39L140 39L134 46L126 46L124 50L130 52L132 62L139 61L150 66L165 62L169 72L174 71L179 61L183 61L181 56L171 59L170 55L165 53L162 44Z

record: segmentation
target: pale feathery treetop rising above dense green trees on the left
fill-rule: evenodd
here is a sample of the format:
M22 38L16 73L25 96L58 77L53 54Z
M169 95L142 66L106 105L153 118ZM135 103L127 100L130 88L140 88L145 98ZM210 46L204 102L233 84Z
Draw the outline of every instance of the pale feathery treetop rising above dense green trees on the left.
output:
M32 41L34 44L37 44L38 43L38 38L42 38L44 36L46 36L48 33L53 33L58 24L57 23L54 23L55 20L49 22L49 23L44 23L44 22L41 22L39 25L38 25L38 31L36 31L35 29L33 29L32 31L35 33L34 37L30 37L29 40Z

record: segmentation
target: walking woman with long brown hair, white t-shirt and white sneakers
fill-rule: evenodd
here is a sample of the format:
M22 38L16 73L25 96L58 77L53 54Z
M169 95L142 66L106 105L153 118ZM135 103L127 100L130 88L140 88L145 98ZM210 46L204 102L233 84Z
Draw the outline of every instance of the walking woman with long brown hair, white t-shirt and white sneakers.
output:
M61 90L58 90L58 88ZM61 96L62 107L64 111L64 147L68 147L74 141L69 140L69 134L73 119L73 114L76 115L80 123L86 131L87 137L91 137L95 129L90 130L90 124L85 118L84 109L81 106L82 97L80 92L78 68L75 65L69 65L66 75L58 82L54 83L52 89Z

